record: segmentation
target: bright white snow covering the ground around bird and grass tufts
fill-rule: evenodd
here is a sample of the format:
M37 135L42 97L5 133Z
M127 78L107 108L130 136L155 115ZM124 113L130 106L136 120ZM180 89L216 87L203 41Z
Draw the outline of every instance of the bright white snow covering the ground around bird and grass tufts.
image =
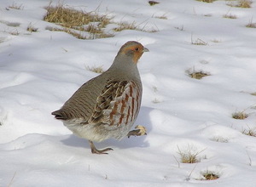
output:
M116 22L158 30L79 40L45 29L53 26L43 21L49 1L1 0L0 186L256 185L256 138L241 133L256 133L256 29L246 27L256 19L255 0L252 8L230 8L225 1L159 2L66 0L73 8L98 8ZM9 8L14 4L21 8ZM26 31L29 25L38 31ZM107 70L130 40L150 50L139 63L143 103L136 122L148 135L109 139L96 147L113 151L92 155L88 142L50 113L97 76L86 66ZM196 80L188 71L211 76ZM248 117L233 119L236 111ZM182 163L178 151L198 153L200 161ZM206 171L219 178L203 180Z

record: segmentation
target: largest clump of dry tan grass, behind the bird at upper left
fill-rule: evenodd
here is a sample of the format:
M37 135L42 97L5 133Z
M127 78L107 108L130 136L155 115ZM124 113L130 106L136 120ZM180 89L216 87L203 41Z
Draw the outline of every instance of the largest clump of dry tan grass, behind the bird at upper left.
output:
M82 10L69 8L64 4L58 4L55 7L49 4L46 10L47 14L44 16L44 20L62 26L61 29L48 28L50 31L65 31L79 39L113 37L113 34L104 32L104 28L111 20L107 14L99 15L96 12L86 13Z

